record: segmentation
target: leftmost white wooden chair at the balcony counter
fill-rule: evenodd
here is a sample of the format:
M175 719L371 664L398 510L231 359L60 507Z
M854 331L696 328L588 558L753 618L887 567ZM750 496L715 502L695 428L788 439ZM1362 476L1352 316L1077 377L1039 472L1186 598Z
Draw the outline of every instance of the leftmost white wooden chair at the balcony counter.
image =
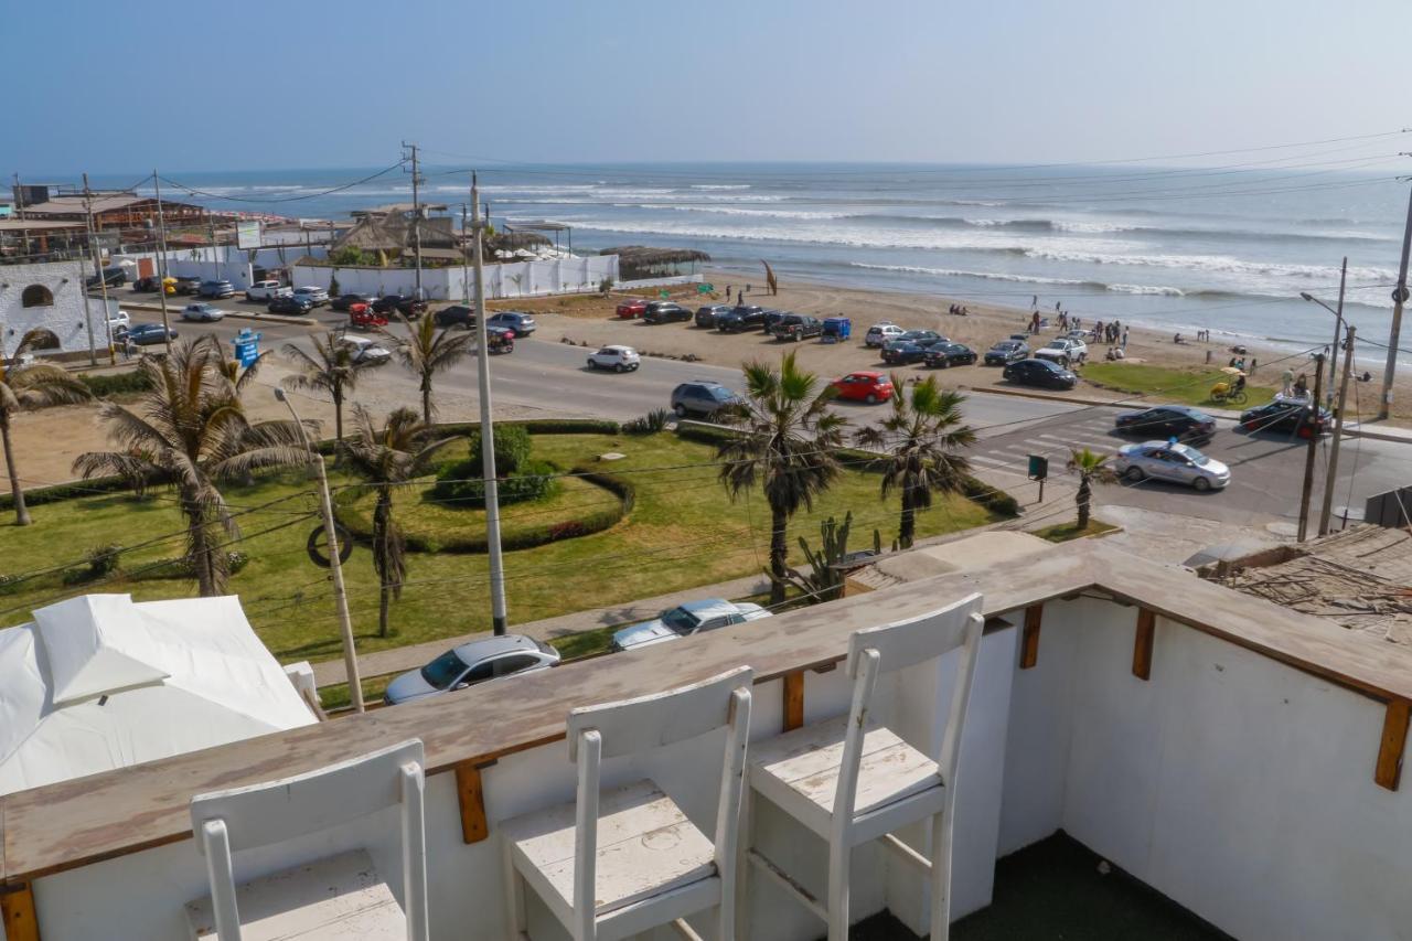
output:
M418 739L278 781L198 794L191 822L206 858L210 897L186 906L193 934L220 941L428 941L424 795ZM350 824L387 807L402 811L402 906L364 851L236 886L233 852Z

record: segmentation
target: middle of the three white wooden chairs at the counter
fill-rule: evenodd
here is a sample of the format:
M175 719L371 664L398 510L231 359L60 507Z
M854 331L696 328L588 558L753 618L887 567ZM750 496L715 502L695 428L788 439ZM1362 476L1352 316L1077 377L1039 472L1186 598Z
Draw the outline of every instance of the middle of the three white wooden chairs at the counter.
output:
M695 685L569 714L576 801L501 828L511 938L530 937L525 886L575 941L624 938L666 924L696 938L685 916L713 906L719 938L734 938L751 678L750 667L740 667ZM603 759L696 739L722 726L729 730L714 841L651 780L599 793Z

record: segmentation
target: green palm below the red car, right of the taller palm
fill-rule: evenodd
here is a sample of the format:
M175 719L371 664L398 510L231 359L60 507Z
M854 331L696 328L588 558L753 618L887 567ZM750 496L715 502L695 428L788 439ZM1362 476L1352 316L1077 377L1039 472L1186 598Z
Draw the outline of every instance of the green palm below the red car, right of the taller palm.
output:
M970 463L962 448L976 442L976 432L962 424L960 404L966 401L936 384L935 376L912 387L912 398L901 376L892 376L892 414L878 427L861 428L853 439L864 448L882 451L882 499L892 490L902 492L902 519L897 541L909 548L916 534L916 511L932 506L936 492L957 492L966 482Z

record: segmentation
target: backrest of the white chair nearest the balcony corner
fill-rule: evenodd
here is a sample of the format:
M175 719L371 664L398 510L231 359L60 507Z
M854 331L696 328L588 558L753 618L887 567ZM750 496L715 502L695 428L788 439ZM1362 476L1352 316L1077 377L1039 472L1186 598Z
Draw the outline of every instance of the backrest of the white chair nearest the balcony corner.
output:
M843 742L839 787L834 793L836 825L853 819L857 795L858 767L863 762L863 736L873 708L873 691L884 673L935 660L952 650L960 650L956 661L956 685L952 708L946 715L946 729L940 747L931 757L946 784L947 800L955 797L956 764L960 754L962 732L970 704L976 658L986 619L981 596L969 595L939 610L909 617L894 625L856 630L849 637L849 675L853 677L853 702L849 708L849 728Z

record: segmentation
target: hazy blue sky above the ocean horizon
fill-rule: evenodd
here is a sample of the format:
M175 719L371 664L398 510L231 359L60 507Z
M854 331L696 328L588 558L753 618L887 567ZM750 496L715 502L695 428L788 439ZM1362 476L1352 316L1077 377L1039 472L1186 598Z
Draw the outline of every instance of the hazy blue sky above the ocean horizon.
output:
M1412 124L1412 1L10 0L0 171L1103 160ZM442 151L436 154L432 151Z

